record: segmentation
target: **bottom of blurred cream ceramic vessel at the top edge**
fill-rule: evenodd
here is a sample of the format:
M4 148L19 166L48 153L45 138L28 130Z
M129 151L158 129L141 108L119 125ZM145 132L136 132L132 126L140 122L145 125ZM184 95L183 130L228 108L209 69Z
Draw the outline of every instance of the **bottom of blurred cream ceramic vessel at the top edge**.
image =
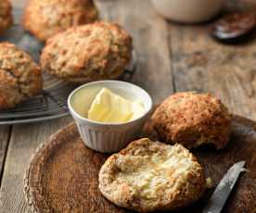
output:
M224 0L151 0L167 19L198 23L213 18L224 6Z

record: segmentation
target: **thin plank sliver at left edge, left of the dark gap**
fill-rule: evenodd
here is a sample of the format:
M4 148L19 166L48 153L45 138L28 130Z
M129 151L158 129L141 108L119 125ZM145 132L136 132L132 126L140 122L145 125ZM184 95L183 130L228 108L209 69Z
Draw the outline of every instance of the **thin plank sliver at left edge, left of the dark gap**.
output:
M4 169L4 162L6 157L6 148L8 144L10 127L0 127L0 185L2 179L2 173Z

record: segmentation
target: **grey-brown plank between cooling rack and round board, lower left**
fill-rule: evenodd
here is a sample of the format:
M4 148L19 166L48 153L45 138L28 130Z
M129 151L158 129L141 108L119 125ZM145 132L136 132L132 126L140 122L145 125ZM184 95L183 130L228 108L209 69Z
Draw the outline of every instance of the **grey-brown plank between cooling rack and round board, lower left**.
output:
M27 212L23 176L28 162L38 145L44 143L50 134L58 131L70 120L69 117L13 127L0 191L1 213Z

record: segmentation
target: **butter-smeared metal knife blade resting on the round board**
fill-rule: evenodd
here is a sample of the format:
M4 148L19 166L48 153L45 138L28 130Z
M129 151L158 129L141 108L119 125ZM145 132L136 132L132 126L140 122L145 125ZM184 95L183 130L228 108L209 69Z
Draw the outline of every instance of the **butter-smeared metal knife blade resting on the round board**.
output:
M225 201L234 188L240 173L245 170L244 166L245 161L239 161L228 169L224 178L211 195L207 206L204 207L203 213L220 213L222 211Z

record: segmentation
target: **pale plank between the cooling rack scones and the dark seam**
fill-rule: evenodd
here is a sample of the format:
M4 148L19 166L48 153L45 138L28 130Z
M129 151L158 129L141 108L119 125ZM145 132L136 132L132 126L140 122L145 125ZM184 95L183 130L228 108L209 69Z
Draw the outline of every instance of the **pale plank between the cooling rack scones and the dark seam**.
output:
M120 23L134 38L139 69L132 80L159 103L173 93L168 24L147 0L98 0L102 19Z

